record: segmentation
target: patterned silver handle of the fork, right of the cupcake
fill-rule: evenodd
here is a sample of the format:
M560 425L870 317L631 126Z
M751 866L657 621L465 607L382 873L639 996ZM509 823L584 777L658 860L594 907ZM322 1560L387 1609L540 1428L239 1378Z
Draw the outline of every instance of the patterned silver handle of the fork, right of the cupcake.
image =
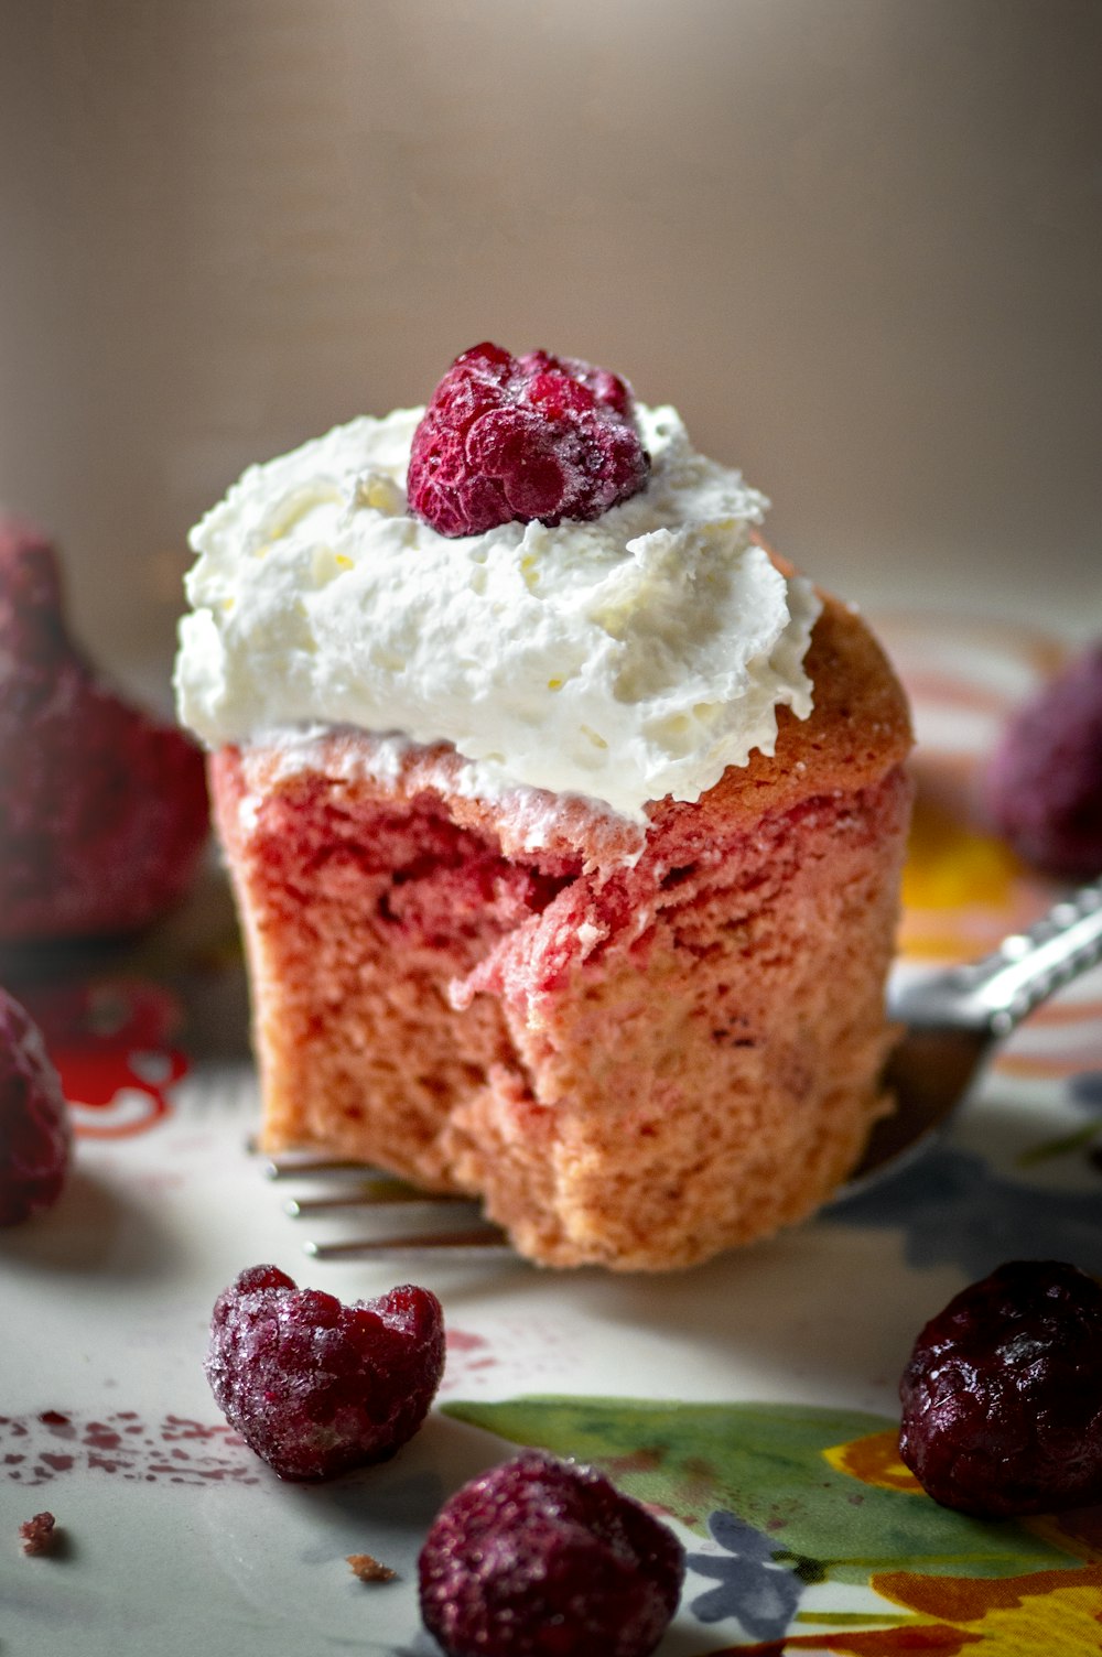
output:
M926 1029L971 1029L1003 1037L1099 963L1102 882L1094 882L1061 898L1027 931L1011 933L993 954L950 968L916 984L913 994L903 993L893 1014Z

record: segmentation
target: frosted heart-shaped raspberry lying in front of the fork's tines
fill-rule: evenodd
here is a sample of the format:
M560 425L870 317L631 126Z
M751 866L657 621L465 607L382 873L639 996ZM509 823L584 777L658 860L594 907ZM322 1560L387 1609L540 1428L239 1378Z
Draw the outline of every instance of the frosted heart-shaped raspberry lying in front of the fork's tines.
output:
M280 1478L335 1478L384 1461L424 1420L444 1372L441 1302L404 1284L341 1306L250 1266L214 1304L205 1370Z

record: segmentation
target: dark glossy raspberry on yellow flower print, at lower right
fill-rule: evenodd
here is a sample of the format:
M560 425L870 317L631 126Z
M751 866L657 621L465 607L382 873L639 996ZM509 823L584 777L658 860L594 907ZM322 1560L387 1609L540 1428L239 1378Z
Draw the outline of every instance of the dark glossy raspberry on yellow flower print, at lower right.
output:
M1102 1284L1051 1259L999 1266L918 1336L900 1455L984 1518L1102 1501Z

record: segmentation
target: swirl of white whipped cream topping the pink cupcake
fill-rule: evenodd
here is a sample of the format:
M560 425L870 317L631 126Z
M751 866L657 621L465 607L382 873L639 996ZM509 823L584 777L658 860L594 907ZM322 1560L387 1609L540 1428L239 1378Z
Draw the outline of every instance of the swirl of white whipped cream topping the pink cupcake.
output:
M421 413L252 466L192 530L176 691L210 747L318 726L447 741L479 792L643 822L771 754L777 708L809 716L819 600L754 543L766 497L674 409L638 409L651 477L623 505L452 540L406 510Z

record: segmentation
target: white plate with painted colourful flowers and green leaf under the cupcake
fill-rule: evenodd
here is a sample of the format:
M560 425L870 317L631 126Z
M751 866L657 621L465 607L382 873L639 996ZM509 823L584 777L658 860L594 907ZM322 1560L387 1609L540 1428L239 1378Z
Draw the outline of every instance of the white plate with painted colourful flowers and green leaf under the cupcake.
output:
M882 633L918 713L915 969L1052 900L984 828L974 777L1059 653L941 618ZM1102 1273L1102 974L1029 1021L950 1138L771 1243L645 1279L408 1268L446 1307L437 1407L394 1461L318 1488L280 1483L219 1418L212 1301L257 1261L346 1299L394 1273L308 1263L260 1178L219 880L139 951L8 961L0 981L43 1022L80 1135L58 1208L0 1234L2 1657L431 1657L421 1539L515 1445L608 1470L678 1529L663 1657L1102 1650L1102 1510L966 1519L895 1452L900 1370L956 1289L1017 1256ZM60 1541L30 1558L20 1524L41 1511ZM360 1581L363 1553L394 1579Z

